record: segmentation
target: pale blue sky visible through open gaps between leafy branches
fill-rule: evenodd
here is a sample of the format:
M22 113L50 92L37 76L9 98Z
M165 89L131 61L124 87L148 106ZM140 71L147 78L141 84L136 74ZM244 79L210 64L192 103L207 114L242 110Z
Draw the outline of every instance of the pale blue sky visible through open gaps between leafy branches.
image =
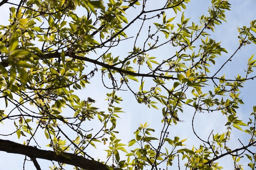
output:
M10 2L16 2L16 0L12 0ZM153 2L153 1L152 1ZM216 26L215 33L210 33L213 37L212 39L215 39L216 42L222 41L222 47L225 48L229 53L224 54L222 57L216 59L216 66L212 66L212 72L218 70L220 67L220 64L223 63L223 61L226 61L227 58L231 56L231 54L236 50L236 48L239 46L238 42L238 32L237 27L241 26L249 26L249 23L251 20L256 20L256 1L255 0L231 0L229 1L231 3L231 11L226 12L226 20L227 23L222 22L222 25ZM149 3L148 3L149 4ZM155 7L157 3L152 3L152 5ZM191 18L191 21L199 24L199 19L201 15L207 15L208 6L211 4L211 0L191 0L190 4L186 4L187 9L185 12L185 18ZM9 7L7 4L4 4L1 8L1 15L0 15L0 25L4 25L8 18L9 18ZM167 12L167 11L166 11ZM130 16L136 15L135 13L131 14L129 13L129 10L126 12L127 18L130 21ZM172 18L172 15L168 15L167 18ZM180 18L177 17L177 22L180 21ZM160 21L159 21L160 22ZM136 23L132 24L132 29L130 31L134 31L139 29ZM147 33L147 30L145 30ZM130 32L132 34L133 32ZM129 37L129 31L126 32L126 34ZM127 42L126 42L127 43ZM171 46L171 44L170 44ZM159 50L155 51L155 53L150 53L152 56L155 55L155 57L162 56L165 58L168 58L169 56L172 56L175 51L171 51L170 49L166 49L167 46L164 46L164 48L159 48ZM118 50L115 52L112 52L114 56L122 56L124 52L131 51L131 49L127 49L126 44L120 45L118 47ZM229 62L225 68L222 69L220 75L225 73L226 78L234 78L238 73L240 75L244 75L244 69L247 68L247 60L248 58L255 53L255 46L254 44L243 46L241 50L236 54L236 56L232 59L232 62ZM125 54L126 55L126 54ZM98 67L100 68L100 67ZM252 80L247 81L246 84L244 84L244 88L241 89L241 95L243 96L243 102L245 105L240 105L240 108L238 109L238 115L240 118L245 118L245 123L247 122L248 115L252 112L252 106L255 104L255 91L254 91L254 82ZM212 87L213 88L213 87ZM134 88L135 89L135 88ZM106 88L103 88L103 85L101 83L101 72L98 71L96 75L91 79L91 84L87 85L87 88L79 94L81 94L81 98L86 99L87 97L91 97L96 100L95 106L98 108L101 108L100 110L103 110L106 108L106 93L110 93L110 90L106 90ZM129 92L129 91L119 91L117 93L118 96L121 96L124 100L121 102L120 105L116 105L118 107L123 108L123 111L125 113L121 113L121 119L118 119L117 121L117 130L119 131L119 134L117 134L117 138L122 139L122 143L128 144L128 141L133 139L135 136L133 135L133 132L137 129L138 124L142 123L144 124L146 121L148 124L150 124L150 128L154 128L156 132L154 133L154 137L159 137L159 132L162 129L162 124L158 123L162 119L162 108L159 107L159 110L156 109L149 109L144 104L138 104L135 100L135 97ZM1 101L0 101L1 102ZM0 103L0 108L4 109L5 103ZM65 112L65 110L64 110ZM199 140L195 138L195 135L193 135L192 128L191 128L191 118L193 117L194 110L190 110L190 108L184 108L184 113L180 114L179 117L184 122L179 122L177 126L173 126L170 128L170 138L173 138L174 136L178 135L180 139L187 139L185 144L188 148L191 148L193 145L195 147L198 147L198 144L200 144ZM225 132L225 123L226 118L222 116L221 113L200 113L196 115L195 117L195 130L202 137L203 139L207 139L210 132L212 130L213 133L219 132L220 134ZM13 128L13 123L10 123L10 126ZM88 123L88 127L95 126L94 124ZM2 133L4 130L6 130L5 126L0 125L0 132ZM236 130L234 130L235 132ZM231 149L240 148L241 145L239 144L238 138L242 141L247 141L249 136L242 136L243 134L236 131L237 133L232 133L231 141L234 142L232 144ZM12 137L0 137L0 139L9 139L16 141L18 143L23 143L23 140L27 140L25 137L20 137L20 140L17 139L16 134L14 134ZM45 137L43 136L43 140L45 140ZM96 143L97 144L97 143ZM97 146L97 145L96 145ZM106 158L106 152L103 151L103 149L107 149L107 145L101 146L99 144L98 150L94 150L93 148L91 150L87 150L86 152L89 153L94 159L100 158L101 160L104 160ZM127 148L129 150L129 148ZM22 170L23 167L23 155L13 155L8 154L6 152L0 152L0 169L13 169L13 170ZM122 158L121 158L122 159ZM38 161L42 169L48 169L47 167L51 165L49 161ZM47 163L48 164L47 164ZM243 164L243 162L240 162ZM225 170L233 169L233 160L231 157L225 157L224 160L222 160L219 164L219 166L222 166ZM177 167L173 166L170 168ZM244 170L249 170L247 167L247 164L244 163L243 166ZM27 170L33 170L36 169L33 165L33 163L26 161L25 169ZM72 169L68 168L66 166L66 170ZM184 167L181 168L182 170L185 169Z

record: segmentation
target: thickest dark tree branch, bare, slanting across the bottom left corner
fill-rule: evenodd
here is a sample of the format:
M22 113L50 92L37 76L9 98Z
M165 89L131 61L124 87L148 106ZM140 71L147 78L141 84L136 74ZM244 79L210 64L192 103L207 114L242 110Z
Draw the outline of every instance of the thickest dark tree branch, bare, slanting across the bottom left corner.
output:
M0 150L8 153L16 153L21 155L27 155L32 160L36 158L46 159L50 161L58 161L66 163L76 167L84 168L86 170L111 170L102 163L94 160L86 159L82 156L74 155L71 153L63 153L63 155L56 155L55 152L50 150L41 150L32 146L26 146L15 143L13 141L0 139ZM34 161L33 161L34 162Z

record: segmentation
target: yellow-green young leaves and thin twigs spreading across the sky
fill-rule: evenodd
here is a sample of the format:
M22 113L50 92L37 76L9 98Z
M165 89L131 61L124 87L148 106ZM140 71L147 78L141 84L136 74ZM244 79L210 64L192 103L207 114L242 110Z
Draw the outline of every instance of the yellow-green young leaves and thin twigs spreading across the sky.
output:
M256 60L254 55L248 57L245 75L234 79L225 78L220 71L243 46L256 44L256 20L238 28L237 49L228 60L218 63L218 70L211 71L216 58L227 50L211 39L210 33L226 21L225 11L231 6L228 1L211 0L208 13L199 21L191 21L186 18L189 2L20 0L16 4L2 0L1 8L13 6L9 24L0 26L0 98L5 104L0 121L2 128L8 127L1 132L2 138L17 135L18 139L27 139L24 145L28 147L45 144L56 157L65 159L71 159L65 153L72 153L92 160L90 146L108 144L107 157L102 157L101 163L109 169L175 166L180 170L184 166L218 170L222 169L221 159L232 157L239 170L243 169L239 161L244 157L254 170L256 106L248 120L241 119L237 110L244 104L240 89L255 78L251 73ZM120 50L124 45L126 49ZM163 47L171 52L158 55ZM99 72L107 93L106 108L96 101L97 96L80 94L87 93L86 86ZM162 128L159 134L142 123L127 144L118 139L118 118L124 112L119 107L122 90L160 113L162 122L156 122ZM200 145L186 146L186 139L169 135L175 125L191 123L180 119L187 107L193 110L192 129ZM204 112L225 115L227 130L199 137L194 117ZM14 122L14 130L9 128L9 120ZM237 148L229 142L234 128L250 135L250 140ZM36 153L31 160L40 169ZM59 161L50 169L65 168L63 163ZM100 168L92 164L85 169Z

